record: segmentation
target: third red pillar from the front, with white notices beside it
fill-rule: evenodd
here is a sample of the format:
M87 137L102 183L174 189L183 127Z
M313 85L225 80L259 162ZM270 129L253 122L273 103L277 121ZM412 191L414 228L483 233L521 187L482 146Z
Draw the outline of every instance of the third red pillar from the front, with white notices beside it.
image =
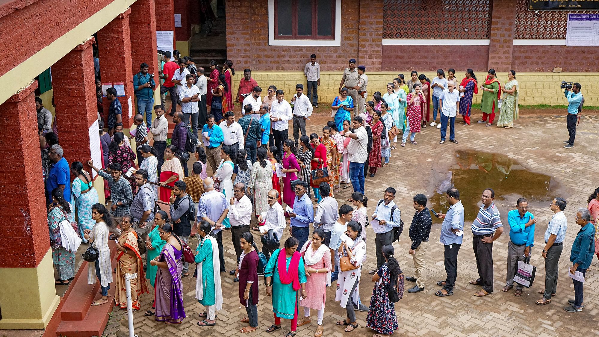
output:
M119 97L120 105L123 108L122 118L123 128L125 129L133 124L132 114L135 111L135 95L133 92L133 74L135 70L131 64L129 14L131 14L131 8L120 13L108 25L98 31L102 83L123 83L125 85L125 96ZM138 64L137 71L139 71L139 67ZM137 71L135 72L137 73ZM131 110L129 110L129 105L131 105ZM105 116L108 116L109 107L110 101L104 97Z

